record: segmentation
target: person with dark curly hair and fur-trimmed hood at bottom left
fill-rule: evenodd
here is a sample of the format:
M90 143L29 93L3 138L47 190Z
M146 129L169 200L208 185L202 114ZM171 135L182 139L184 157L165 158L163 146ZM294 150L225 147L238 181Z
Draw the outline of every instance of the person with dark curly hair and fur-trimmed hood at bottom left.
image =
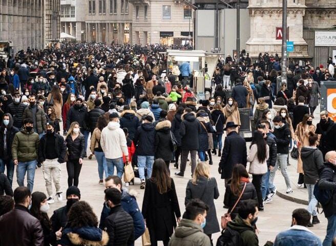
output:
M109 235L97 228L98 219L89 203L76 202L70 208L68 217L69 222L62 231L58 245L108 245Z

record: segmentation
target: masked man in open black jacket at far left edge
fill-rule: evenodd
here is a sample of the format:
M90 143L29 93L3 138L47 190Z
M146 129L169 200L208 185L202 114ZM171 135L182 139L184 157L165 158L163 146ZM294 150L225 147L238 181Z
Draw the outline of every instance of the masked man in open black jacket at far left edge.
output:
M7 168L7 177L10 186L13 183L14 162L12 159L12 143L15 134L19 131L13 126L11 114L4 114L3 124L0 127L0 173L5 173Z

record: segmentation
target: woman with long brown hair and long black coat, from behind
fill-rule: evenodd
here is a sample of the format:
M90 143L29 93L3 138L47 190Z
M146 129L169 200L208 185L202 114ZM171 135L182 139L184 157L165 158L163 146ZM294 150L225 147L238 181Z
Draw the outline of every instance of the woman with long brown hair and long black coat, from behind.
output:
M168 245L181 212L174 180L162 159L154 161L152 176L146 181L141 211L151 244L156 246L157 241L163 241L164 246Z

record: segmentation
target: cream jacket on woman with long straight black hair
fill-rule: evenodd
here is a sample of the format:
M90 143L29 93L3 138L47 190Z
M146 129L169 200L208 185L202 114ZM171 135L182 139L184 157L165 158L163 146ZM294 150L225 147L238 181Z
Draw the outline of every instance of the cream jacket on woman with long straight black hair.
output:
M251 149L249 150L249 154L247 156L247 161L250 162L248 173L258 175L267 173L268 157L269 157L268 145L266 145L266 159L262 163L260 163L260 161L258 160L257 145L256 144L252 145Z

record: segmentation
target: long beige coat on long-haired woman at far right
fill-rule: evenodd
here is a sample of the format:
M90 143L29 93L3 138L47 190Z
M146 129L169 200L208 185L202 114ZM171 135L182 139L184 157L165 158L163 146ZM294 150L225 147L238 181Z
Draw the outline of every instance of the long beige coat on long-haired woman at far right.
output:
M298 147L299 153L301 153L301 149L304 146L309 146L309 132L315 132L316 127L314 125L306 125L303 126L302 122L300 122L295 130L295 140L300 141L301 145ZM298 173L303 173L302 159L301 154L299 154L298 158Z

